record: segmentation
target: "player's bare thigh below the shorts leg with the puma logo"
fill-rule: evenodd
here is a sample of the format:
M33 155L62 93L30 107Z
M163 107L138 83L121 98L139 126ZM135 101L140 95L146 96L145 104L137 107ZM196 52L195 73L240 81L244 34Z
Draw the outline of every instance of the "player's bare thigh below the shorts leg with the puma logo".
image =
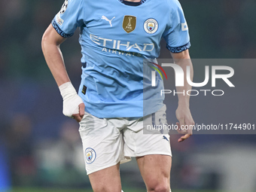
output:
M171 156L150 154L143 157L136 157L136 160L148 191L154 191L157 188L166 189L166 191L170 190Z

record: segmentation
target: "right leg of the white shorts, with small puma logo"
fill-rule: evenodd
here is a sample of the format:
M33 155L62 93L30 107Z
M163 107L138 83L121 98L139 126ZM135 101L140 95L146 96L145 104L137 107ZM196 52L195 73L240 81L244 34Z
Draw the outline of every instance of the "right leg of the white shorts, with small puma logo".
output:
M166 124L166 106L154 114L137 120L130 120L123 129L124 155L126 157L143 157L149 154L172 156L168 130L147 131L147 125Z

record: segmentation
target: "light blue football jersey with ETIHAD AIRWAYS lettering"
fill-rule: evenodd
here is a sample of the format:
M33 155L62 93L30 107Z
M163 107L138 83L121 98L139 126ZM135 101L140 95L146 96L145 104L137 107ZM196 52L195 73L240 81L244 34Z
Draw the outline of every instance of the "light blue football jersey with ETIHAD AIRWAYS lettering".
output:
M178 0L66 0L52 25L68 38L80 28L82 75L78 95L96 117L143 117L163 106L163 80L151 87L151 62L160 39L179 53L190 47L187 23Z

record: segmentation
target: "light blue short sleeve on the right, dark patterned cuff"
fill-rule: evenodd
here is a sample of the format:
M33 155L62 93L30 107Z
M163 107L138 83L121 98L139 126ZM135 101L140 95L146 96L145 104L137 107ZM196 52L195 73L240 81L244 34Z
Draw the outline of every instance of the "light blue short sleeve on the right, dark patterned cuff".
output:
M166 47L172 53L180 53L190 47L190 37L187 22L184 17L180 3L175 0L171 13L169 29L163 35L166 40Z

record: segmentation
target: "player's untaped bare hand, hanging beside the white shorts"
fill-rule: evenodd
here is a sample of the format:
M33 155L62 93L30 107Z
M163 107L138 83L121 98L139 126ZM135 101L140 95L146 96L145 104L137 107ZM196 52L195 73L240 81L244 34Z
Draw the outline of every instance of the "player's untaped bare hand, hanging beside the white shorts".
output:
M184 134L184 136L181 136L180 139L178 139L178 142L183 142L185 139L192 136L192 125L194 125L193 117L190 113L189 107L186 105L178 105L178 108L176 110L176 117L179 122L177 122L178 126L178 133Z

